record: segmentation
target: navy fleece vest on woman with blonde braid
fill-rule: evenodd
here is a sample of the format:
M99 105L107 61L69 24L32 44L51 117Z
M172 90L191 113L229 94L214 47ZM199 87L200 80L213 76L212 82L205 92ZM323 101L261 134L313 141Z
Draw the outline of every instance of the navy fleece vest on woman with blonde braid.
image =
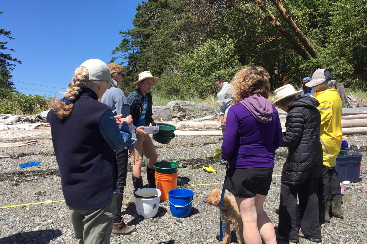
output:
M99 131L99 117L110 109L94 91L83 88L71 115L58 119L50 110L52 143L66 205L87 210L105 207L117 188L114 151Z

